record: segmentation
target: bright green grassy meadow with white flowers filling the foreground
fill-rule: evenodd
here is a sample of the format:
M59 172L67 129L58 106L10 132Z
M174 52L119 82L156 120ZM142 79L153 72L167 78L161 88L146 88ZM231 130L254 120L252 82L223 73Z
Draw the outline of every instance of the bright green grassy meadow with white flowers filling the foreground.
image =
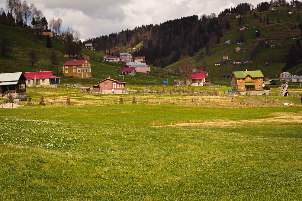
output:
M298 200L301 115L301 106L0 109L0 197Z

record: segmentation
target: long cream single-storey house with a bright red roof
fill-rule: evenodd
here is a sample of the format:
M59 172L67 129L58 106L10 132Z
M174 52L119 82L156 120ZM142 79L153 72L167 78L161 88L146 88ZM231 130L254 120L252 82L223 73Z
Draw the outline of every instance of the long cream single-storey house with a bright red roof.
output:
M24 76L27 79L26 85L29 87L59 85L59 77L53 76L51 71L26 72Z

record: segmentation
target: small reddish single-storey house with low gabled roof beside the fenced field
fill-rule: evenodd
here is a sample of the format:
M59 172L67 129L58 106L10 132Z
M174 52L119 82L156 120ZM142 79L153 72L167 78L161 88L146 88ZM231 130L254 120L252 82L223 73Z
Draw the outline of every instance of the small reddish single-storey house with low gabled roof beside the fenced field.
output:
M92 86L93 93L100 94L116 94L116 93L125 93L125 84L126 82L120 82L114 79L106 78L98 82L98 85Z

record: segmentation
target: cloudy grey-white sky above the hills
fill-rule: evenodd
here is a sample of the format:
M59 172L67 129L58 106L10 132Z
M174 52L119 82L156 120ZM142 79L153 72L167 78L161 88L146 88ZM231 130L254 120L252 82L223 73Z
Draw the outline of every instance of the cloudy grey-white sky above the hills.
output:
M23 2L23 0L21 0ZM6 0L0 0L5 8ZM63 29L72 27L81 39L118 33L144 24L159 24L191 15L210 15L236 7L242 0L27 0L41 10L47 21L61 18ZM246 1L254 6L260 0Z

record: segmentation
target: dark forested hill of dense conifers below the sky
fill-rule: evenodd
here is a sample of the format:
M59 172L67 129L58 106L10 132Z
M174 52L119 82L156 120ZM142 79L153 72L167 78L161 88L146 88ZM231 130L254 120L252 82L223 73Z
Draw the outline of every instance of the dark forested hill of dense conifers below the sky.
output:
M170 20L156 25L143 25L133 30L122 30L120 33L101 36L86 40L84 43L94 43L99 51L118 56L119 53L143 41L134 56L146 56L146 60L154 66L164 67L176 62L184 55L192 56L199 49L207 50L220 42L220 38L230 27L227 14L246 14L252 5L244 3L236 8L225 9L216 14L188 16Z

